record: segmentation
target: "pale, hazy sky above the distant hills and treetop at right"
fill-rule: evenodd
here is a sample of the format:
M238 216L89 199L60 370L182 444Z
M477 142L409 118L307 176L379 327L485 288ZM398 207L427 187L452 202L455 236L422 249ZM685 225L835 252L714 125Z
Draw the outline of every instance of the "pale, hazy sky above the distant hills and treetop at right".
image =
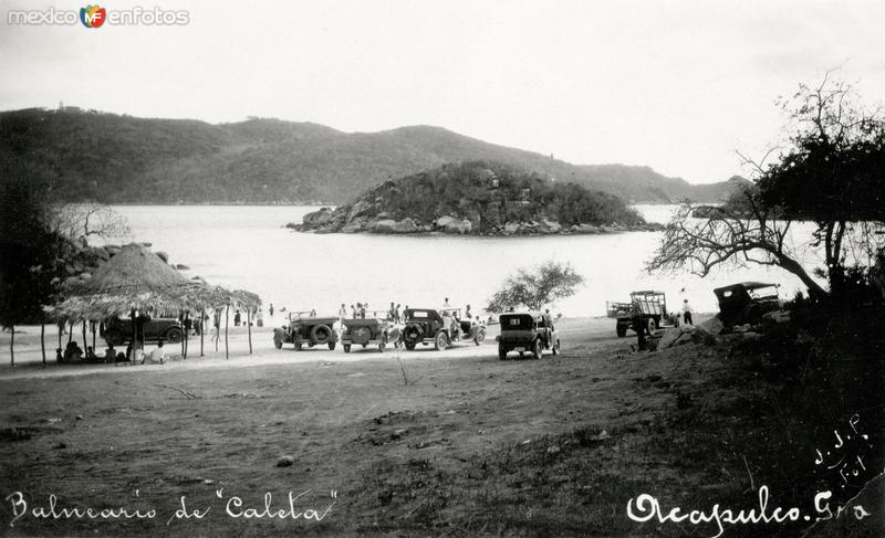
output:
M579 165L649 166L693 183L782 135L779 96L830 76L885 103L885 2L773 0L157 0L186 24L10 23L0 110L435 125ZM110 19L108 19L110 21ZM142 20L144 22L144 20Z

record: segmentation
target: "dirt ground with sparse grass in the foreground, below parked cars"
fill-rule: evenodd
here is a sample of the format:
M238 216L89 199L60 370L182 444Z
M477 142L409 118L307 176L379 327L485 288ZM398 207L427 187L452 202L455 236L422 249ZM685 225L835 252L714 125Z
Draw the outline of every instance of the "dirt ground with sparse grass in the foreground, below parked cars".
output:
M10 536L715 536L711 523L634 521L627 502L752 508L753 486L789 483L760 440L790 419L751 409L743 389L759 373L728 348L633 352L635 337L616 338L608 319L559 328L563 354L540 361L498 360L494 327L479 347L346 355L273 349L264 327L251 356L233 331L230 360L208 340L198 358L191 339L185 361L45 369L39 328L27 328L20 366L0 367L0 525ZM700 411L712 422L693 422ZM796 450L811 457L790 473L813 472L811 445ZM782 494L772 488L770 506L791 506ZM74 507L132 517L59 515Z

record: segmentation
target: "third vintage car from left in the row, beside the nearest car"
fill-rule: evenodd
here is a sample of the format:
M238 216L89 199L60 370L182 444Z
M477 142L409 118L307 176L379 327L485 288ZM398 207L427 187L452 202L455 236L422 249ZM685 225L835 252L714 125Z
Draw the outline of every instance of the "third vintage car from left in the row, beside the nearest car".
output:
M437 350L446 349L455 342L472 341L477 346L486 339L486 326L478 318L462 319L460 308L407 308L404 313L403 342L406 349L415 349L418 344L433 344ZM444 315L452 318L445 327Z

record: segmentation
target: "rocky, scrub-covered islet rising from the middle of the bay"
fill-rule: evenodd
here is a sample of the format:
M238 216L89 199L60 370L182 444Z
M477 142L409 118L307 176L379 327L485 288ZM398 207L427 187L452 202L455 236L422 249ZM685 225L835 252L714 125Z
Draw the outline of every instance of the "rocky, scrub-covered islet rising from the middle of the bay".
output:
M499 162L444 165L288 228L314 233L541 235L657 231L620 198Z

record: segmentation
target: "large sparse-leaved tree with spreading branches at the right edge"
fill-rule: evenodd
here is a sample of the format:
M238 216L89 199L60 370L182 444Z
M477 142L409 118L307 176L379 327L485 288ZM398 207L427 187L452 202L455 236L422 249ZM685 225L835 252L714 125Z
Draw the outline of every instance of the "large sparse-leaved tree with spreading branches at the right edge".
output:
M760 161L738 154L753 171L752 186L723 205L680 209L649 271L706 276L726 263L771 265L796 275L813 295L845 297L848 268L871 267L883 245L885 122L879 109L857 104L851 85L829 76L782 102L781 147ZM798 221L814 223L806 245L822 250L824 267L803 266L788 241ZM826 277L829 291L812 274Z

